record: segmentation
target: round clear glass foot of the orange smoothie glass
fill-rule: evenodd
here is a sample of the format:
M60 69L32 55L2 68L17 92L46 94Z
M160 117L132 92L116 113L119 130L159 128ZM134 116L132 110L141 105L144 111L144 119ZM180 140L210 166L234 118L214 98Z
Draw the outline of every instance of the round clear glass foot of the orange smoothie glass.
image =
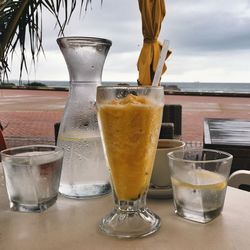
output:
M160 217L148 208L135 211L115 208L100 223L102 232L118 238L138 238L150 235L160 228Z

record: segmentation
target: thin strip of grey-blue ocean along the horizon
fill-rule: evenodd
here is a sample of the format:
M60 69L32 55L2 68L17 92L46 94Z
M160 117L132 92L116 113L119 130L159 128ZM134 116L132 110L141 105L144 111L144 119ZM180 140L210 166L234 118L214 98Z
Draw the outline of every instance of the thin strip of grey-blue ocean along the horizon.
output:
M11 81L18 85L18 81ZM32 82L32 81L30 81ZM68 81L39 81L48 87L69 88ZM23 83L26 83L23 81ZM103 85L113 85L125 82L103 82ZM126 82L130 85L136 85L136 82ZM194 93L229 93L229 94L250 94L250 83L216 83L216 82L163 82L165 90L177 92Z

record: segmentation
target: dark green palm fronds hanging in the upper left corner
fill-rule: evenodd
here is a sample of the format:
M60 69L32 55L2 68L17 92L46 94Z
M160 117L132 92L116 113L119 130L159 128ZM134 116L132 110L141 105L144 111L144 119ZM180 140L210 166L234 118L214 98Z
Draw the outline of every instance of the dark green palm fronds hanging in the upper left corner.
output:
M103 0L100 0L101 4ZM82 8L87 11L92 0L81 0ZM23 69L28 72L26 60L26 39L29 37L30 53L35 64L36 55L43 52L42 47L42 15L43 8L49 10L56 19L59 32L63 35L73 12L76 10L77 0L2 0L0 2L0 82L8 76L8 59L20 46L20 80ZM61 17L61 19L59 18ZM1 73L3 72L3 75Z

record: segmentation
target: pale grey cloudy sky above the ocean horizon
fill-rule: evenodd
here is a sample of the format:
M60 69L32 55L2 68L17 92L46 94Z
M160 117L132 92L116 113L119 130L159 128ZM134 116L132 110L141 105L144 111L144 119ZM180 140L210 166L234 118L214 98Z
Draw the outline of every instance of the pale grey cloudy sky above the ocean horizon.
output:
M95 36L112 40L103 81L136 81L143 44L137 0L92 0L88 11L76 11L66 36ZM166 0L159 40L170 41L163 82L250 82L250 0ZM43 46L29 80L69 79L56 43L54 17L44 12ZM10 79L19 77L19 58L11 63Z

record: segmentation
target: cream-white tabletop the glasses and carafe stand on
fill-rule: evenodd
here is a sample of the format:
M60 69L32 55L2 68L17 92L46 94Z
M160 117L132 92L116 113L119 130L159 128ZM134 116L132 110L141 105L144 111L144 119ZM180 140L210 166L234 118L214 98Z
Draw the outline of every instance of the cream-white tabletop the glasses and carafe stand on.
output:
M111 196L81 201L59 197L43 213L12 212L0 175L0 249L250 249L248 192L229 187L222 215L208 224L178 217L172 200L148 200L148 206L161 217L161 229L149 237L119 240L98 229L102 216L113 207Z

